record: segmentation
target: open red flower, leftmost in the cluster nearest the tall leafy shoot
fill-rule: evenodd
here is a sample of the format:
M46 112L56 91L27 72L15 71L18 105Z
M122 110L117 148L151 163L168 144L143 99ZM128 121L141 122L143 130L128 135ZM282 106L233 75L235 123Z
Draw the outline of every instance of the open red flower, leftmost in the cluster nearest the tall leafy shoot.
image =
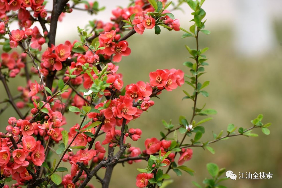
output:
M150 72L150 85L157 86L158 88L162 88L166 84L166 80L168 78L167 72L164 70L157 70L156 72Z

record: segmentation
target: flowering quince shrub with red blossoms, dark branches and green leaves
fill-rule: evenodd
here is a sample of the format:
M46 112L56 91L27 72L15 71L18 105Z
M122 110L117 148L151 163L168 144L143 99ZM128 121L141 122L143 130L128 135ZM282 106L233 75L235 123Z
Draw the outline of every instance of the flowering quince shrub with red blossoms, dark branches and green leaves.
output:
M180 28L179 20L168 11L169 6L178 9L183 2L193 10L189 31ZM78 9L96 14L104 8L99 7L97 1L60 0L54 1L53 9L47 11L43 0L1 0L0 38L4 52L0 79L8 97L1 104L10 104L16 115L7 120L6 132L0 132L0 188L9 188L9 185L49 188L54 184L64 188L93 188L89 183L93 177L107 188L117 163L132 164L142 160L148 165L138 169L136 186L163 188L168 185L165 179L170 178L171 170L178 176L182 171L193 175L194 171L186 166L193 156L192 147L214 153L209 145L218 140L239 135L258 136L251 133L253 128L261 128L263 133L269 134L267 127L271 124L263 124L263 116L259 115L251 121L251 128L240 127L235 133L237 127L229 124L225 136L221 131L214 134L212 141L200 141L205 133L200 124L212 118L196 122L194 117L216 114L213 109L197 106L199 94L208 97L203 89L209 84L209 81L200 83L199 80L204 66L208 65L204 55L208 48L200 49L198 44L200 31L209 34L204 29L203 3L203 0L187 0L174 5L166 0L131 0L127 8L117 7L112 11L111 22L90 21L91 31L78 27L79 41L55 44L56 26L66 13ZM85 8L77 7L79 4L84 4ZM13 21L19 23L20 29L9 27ZM34 22L39 22L42 28L33 26ZM50 29L46 24L50 24ZM186 46L194 60L184 63L191 74L173 68L159 69L150 72L145 82L125 86L122 74L118 73L118 63L123 56L131 54L126 40L135 33L142 35L147 29L159 34L160 27L181 29L185 32L183 38L196 39L196 49ZM129 32L125 34L126 31ZM17 51L12 50L15 48ZM29 63L32 67L27 66ZM17 75L24 76L27 84L18 86L19 94L13 96L7 81ZM190 121L184 116L180 116L177 125L163 120L166 133L161 131L160 138L147 138L142 149L131 146L145 132L130 127L130 122L154 105L154 97L185 82L193 89L192 94L184 90L183 98L194 102ZM80 116L81 122L69 122L64 117L66 112ZM67 123L72 125L69 130L65 130ZM178 138L179 135L182 138ZM191 137L191 143L185 139L187 137ZM54 155L59 156L58 161L54 160ZM62 163L66 163L64 167ZM106 172L101 178L97 172L103 167ZM224 169L219 170L213 163L207 168L213 179L204 183L216 187ZM65 172L64 176L58 172ZM7 185L10 181L13 184Z

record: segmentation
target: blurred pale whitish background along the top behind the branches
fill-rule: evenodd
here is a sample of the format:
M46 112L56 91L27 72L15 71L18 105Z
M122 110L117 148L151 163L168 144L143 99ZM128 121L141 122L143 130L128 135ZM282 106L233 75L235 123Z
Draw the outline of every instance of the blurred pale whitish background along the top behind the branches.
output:
M117 6L126 7L129 3L128 0L98 0L98 2L99 7L106 7L106 10L98 15L90 15L86 11L79 10L66 13L63 21L58 22L56 39L66 40L68 37L75 36L77 26L84 28L89 20L109 21L112 17L112 9ZM174 0L174 2L177 1ZM192 19L192 15L186 3L182 5L182 8L185 13L179 10L172 13L175 18L180 19L180 25L185 27L189 24L186 22ZM49 0L46 9L52 9L52 1ZM281 43L276 41L273 31L274 21L281 20L281 0L206 0L203 9L207 13L206 25L209 28L233 27L234 45L238 47L239 53L246 56L258 55L271 50L275 44Z

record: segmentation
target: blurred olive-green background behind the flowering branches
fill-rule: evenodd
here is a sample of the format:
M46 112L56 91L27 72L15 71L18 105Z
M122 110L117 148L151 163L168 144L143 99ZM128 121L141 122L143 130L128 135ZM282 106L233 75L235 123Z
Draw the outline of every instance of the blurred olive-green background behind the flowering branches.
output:
M188 29L188 26L189 23L185 23L182 27ZM279 44L282 40L281 20L276 20L274 26L275 39ZM220 168L225 167L226 170L231 170L237 175L236 180L228 179L222 183L226 187L281 187L282 127L279 123L282 121L281 45L275 45L270 52L259 56L241 56L235 52L232 45L234 33L230 26L218 27L218 25L208 24L207 29L211 31L211 34L201 33L199 43L200 48L210 48L206 52L209 59L207 62L210 65L205 67L207 74L201 76L200 81L210 81L210 85L206 88L210 96L208 98L200 96L198 106L206 103L206 108L214 108L218 114L212 116L213 120L203 124L206 134L202 140L212 140L212 131L215 133L225 131L229 123L249 128L252 126L250 120L256 118L258 114L264 115L264 123L272 122L272 126L269 127L271 134L264 135L258 128L253 132L258 133L259 137L236 136L213 143L210 146L215 149L215 155L202 148L193 148L193 157L185 165L194 169L196 173L190 176L184 172L181 177L177 177L174 172L170 171L174 183L168 188L195 187L191 181L202 185L205 177L210 178L206 170L206 163L216 163ZM131 55L123 57L118 64L119 73L123 74L124 85L136 83L139 80L148 82L149 72L156 69L176 68L190 74L188 68L182 65L189 58L184 45L194 48L195 41L192 38L180 39L182 34L182 31L162 29L160 35L154 35L153 31L146 30L142 36L135 34L130 37L127 41L131 48ZM72 39L69 38L69 40L73 39L77 39L75 33ZM18 93L17 86L25 84L25 80L20 77L10 79L9 82L13 95ZM143 150L146 138L160 138L159 131L163 130L162 119L166 121L172 119L172 123L176 125L180 115L191 118L192 102L187 99L182 101L184 96L182 90L191 92L187 84L171 92L164 91L159 96L161 99L153 99L155 105L149 108L148 113L144 112L141 118L129 124L129 127L143 130L141 139L137 142L131 141L132 146L140 147ZM7 97L3 84L0 84L0 96L1 100ZM0 104L0 108L4 106L5 104ZM5 131L10 116L17 117L11 106L0 116L0 131ZM80 122L80 118L73 116L72 113L66 114L66 118L68 124L65 129L73 126L74 122ZM203 117L196 117L196 120L201 118ZM189 143L188 138L186 142ZM135 177L139 173L136 168L144 168L145 165L145 162L133 165L126 163L125 167L118 164L113 171L110 187L136 187ZM64 166L70 167L68 163L65 163ZM104 171L102 169L98 174L103 177ZM271 172L273 178L239 179L239 172ZM95 187L100 187L96 179L93 178L92 182Z

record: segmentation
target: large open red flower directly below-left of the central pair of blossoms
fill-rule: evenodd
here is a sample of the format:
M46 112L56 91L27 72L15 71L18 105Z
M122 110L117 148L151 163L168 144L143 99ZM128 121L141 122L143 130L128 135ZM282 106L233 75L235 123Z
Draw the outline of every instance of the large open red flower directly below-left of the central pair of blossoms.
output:
M132 120L133 115L136 114L137 108L132 106L132 100L125 98L119 108L117 108L117 117Z

